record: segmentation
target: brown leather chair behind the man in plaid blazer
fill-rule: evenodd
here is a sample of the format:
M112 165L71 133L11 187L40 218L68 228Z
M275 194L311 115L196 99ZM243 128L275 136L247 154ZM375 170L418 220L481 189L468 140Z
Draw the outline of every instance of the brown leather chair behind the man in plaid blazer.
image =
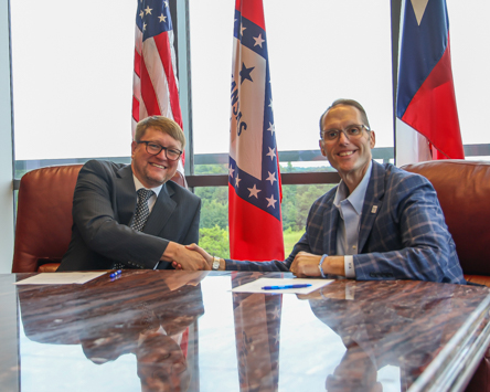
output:
M432 182L465 278L490 286L490 162L447 159L406 165L402 169Z

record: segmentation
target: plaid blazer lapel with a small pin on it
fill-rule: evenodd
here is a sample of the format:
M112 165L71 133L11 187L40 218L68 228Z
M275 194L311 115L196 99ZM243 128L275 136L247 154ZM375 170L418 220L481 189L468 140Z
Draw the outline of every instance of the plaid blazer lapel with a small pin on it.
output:
M370 183L365 192L364 204L362 206L361 227L359 231L359 251L364 248L364 245L370 236L374 221L381 211L384 197L384 178L385 168L373 160L373 168L371 171Z

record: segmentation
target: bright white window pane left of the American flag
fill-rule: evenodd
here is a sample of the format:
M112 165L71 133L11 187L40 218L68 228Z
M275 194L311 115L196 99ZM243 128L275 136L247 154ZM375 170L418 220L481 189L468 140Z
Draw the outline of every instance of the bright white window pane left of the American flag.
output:
M129 157L135 2L10 3L15 159Z

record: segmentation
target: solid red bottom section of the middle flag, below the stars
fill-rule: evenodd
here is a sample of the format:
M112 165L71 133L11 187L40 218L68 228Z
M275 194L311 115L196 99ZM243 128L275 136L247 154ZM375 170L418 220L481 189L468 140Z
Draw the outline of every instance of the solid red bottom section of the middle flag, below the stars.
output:
M284 259L283 222L238 198L228 183L230 255L234 259ZM265 233L259 227L267 227Z

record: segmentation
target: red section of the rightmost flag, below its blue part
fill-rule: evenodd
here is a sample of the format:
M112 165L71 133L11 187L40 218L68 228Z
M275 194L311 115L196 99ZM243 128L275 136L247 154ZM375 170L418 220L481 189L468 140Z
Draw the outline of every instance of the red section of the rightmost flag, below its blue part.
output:
M446 158L465 159L449 41L446 52L412 98L402 120L424 135Z

